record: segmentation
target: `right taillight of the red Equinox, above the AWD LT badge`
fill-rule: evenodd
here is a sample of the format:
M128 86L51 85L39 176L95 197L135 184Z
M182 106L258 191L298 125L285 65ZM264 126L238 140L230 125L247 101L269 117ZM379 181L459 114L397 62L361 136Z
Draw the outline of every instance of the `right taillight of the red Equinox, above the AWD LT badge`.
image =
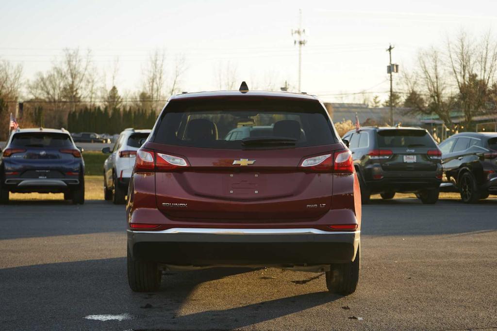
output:
M333 154L324 154L313 156L302 161L301 167L315 172L336 172L348 173L354 172L354 162L350 150L334 152Z

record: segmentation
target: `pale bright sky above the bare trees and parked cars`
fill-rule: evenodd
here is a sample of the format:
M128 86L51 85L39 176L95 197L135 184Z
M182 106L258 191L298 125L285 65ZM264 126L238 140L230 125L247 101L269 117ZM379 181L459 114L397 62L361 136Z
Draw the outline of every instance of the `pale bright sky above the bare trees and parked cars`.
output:
M291 30L298 27L299 8L308 32L302 90L325 101L340 100L333 94L387 91L389 43L404 70L420 48L442 45L461 29L497 35L496 0L1 0L0 58L22 63L31 78L63 48L89 48L108 75L119 59L117 86L124 91L141 87L147 58L159 48L166 50L167 66L184 55L185 91L218 89L216 67L228 63L249 87L285 80L296 86L298 47Z

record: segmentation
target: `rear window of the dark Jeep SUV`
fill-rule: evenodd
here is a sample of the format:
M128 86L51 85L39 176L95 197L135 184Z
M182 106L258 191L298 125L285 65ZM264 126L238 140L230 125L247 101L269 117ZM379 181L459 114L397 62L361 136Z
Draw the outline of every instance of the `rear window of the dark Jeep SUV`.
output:
M436 147L435 141L424 130L378 131L378 147Z

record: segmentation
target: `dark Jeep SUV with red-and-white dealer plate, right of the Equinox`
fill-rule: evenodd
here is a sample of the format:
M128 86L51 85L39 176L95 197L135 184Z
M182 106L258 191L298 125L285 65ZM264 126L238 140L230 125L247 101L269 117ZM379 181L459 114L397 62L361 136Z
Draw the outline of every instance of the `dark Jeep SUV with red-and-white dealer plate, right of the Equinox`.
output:
M364 127L343 136L352 151L362 203L372 194L392 199L396 192L415 193L423 203L438 200L441 152L424 129Z

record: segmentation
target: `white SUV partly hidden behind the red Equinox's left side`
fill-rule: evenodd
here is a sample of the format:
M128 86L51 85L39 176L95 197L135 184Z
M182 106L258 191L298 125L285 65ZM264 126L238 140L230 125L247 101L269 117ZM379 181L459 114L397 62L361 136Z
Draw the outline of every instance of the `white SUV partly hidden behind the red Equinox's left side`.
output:
M128 184L135 166L136 151L141 147L151 130L126 129L119 135L112 151L110 147L102 148L110 153L103 164L103 190L106 200L115 204L125 202Z

